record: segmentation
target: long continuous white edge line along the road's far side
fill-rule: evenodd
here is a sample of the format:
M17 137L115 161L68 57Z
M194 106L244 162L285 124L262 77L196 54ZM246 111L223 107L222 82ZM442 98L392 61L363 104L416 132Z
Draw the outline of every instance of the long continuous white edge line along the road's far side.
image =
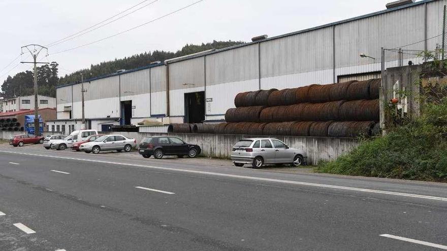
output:
M359 192L365 192L365 193L388 194L388 195L412 197L412 198L419 198L419 199L447 201L447 198L445 198L445 197L435 197L435 196L420 195L420 194L398 193L398 192L383 191L383 190L373 190L373 189L365 189L365 188L341 187L341 186L333 186L333 185L325 185L325 184L317 184L317 183L276 180L274 178L262 178L262 177L243 176L243 175L226 174L226 173L218 173L218 172L196 171L196 170L171 168L171 167L148 166L148 165L118 163L118 162L103 161L103 160L90 160L90 159L79 159L79 158L62 157L62 156L49 156L49 155L41 155L41 154L18 153L18 152L10 152L10 151L0 151L0 153L12 153L12 154L21 154L21 155L28 155L28 156L47 157L47 158L55 158L55 159L68 159L68 160L88 161L88 162L113 164L113 165L145 167L145 168L152 168L152 169L158 169L158 170L189 172L189 173L200 173L200 174L207 174L207 175L214 175L214 176L242 178L242 179L245 179L245 180L276 182L276 183L283 183L283 184L293 184L293 185L301 185L301 186L332 188L332 189L359 191Z

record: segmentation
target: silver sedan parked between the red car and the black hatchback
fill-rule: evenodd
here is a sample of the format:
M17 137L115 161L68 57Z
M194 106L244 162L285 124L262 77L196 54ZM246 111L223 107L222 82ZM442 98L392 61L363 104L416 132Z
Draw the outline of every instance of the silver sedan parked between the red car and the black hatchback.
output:
M104 135L94 141L86 142L79 146L79 150L86 153L100 153L101 151L130 152L137 146L137 140L123 135Z

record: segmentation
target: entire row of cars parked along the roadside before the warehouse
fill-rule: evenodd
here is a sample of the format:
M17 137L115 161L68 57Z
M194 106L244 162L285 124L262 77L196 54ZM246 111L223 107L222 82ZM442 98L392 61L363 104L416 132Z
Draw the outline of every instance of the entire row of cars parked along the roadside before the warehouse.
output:
M96 130L79 130L70 135L48 135L45 138L33 134L23 134L11 137L10 145L22 147L25 144L43 144L45 149L72 149L85 153L98 154L101 151L130 152L138 148L143 158L161 159L163 156L198 156L202 149L198 145L187 144L174 136L151 136L137 141L120 134L100 135ZM266 164L291 164L300 166L307 164L305 152L290 148L281 140L275 138L241 139L233 147L231 160L235 166L251 165L261 168Z

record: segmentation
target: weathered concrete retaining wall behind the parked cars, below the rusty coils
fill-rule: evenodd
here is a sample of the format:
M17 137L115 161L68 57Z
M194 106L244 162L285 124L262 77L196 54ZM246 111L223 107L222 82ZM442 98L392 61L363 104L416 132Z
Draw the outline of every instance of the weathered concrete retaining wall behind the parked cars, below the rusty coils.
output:
M117 132L115 132L117 133ZM200 134L200 133L145 133L145 132L119 132L124 136L132 137L140 142L143 137L155 135L176 136L189 144L202 148L202 155L216 158L229 158L233 146L242 138L267 137L256 135L231 134ZM269 136L273 137L273 136ZM308 164L317 165L321 160L334 160L343 153L349 152L359 145L355 138L334 137L294 137L274 136L284 141L290 147L303 150L307 153Z

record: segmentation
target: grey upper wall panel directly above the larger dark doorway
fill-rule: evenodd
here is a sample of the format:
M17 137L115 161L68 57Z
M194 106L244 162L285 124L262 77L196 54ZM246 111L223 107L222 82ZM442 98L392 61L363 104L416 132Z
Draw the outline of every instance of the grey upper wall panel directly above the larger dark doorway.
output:
M204 86L204 57L169 64L169 90Z

